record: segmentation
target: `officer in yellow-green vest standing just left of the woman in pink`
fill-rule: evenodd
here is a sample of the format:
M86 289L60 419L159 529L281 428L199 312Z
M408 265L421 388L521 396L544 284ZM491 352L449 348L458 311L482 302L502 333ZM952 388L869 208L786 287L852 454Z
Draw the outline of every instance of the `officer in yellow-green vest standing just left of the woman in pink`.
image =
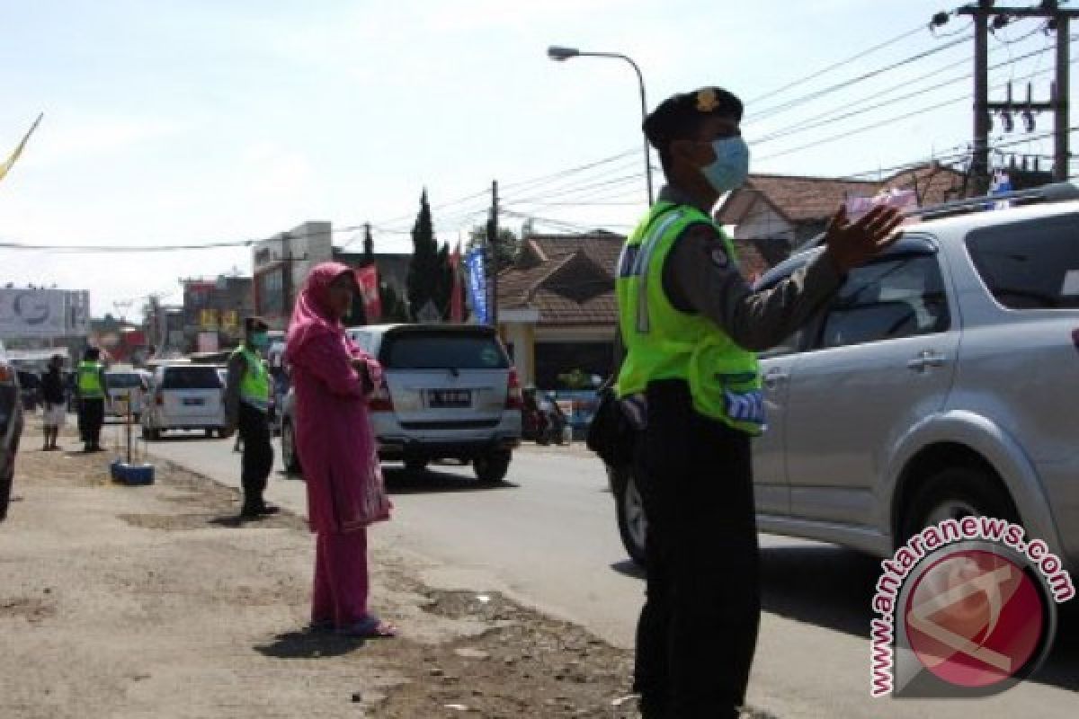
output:
M269 327L258 317L244 320L244 342L229 358L224 407L228 417L226 437L237 429L244 445L240 481L244 504L240 515L256 518L275 514L278 508L262 498L267 480L273 469L273 445L270 443L270 392L272 381L261 352L270 346Z

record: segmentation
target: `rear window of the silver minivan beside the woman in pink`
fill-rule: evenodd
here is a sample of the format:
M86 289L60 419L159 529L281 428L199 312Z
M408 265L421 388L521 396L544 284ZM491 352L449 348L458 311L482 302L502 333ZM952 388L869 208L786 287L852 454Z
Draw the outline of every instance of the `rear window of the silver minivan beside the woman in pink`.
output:
M504 370L509 360L488 334L406 332L383 340L379 354L390 370Z

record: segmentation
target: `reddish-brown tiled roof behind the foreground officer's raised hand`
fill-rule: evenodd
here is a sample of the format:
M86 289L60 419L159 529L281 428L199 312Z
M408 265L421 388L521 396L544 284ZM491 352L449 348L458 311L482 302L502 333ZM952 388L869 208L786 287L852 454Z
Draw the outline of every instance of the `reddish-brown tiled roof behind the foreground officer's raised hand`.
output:
M913 189L919 204L933 205L962 196L966 183L962 172L939 164L903 170L883 181L750 175L742 188L727 196L715 218L722 224L738 224L763 201L792 223L824 220L848 197L868 197L893 188Z

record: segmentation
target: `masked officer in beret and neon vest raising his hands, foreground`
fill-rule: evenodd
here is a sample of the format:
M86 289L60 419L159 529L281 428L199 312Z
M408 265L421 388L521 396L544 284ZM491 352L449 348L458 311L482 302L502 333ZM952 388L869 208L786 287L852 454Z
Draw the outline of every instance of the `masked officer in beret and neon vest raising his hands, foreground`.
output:
M900 218L841 209L827 251L753 292L712 207L749 171L741 101L675 95L644 122L667 186L618 261L617 393L641 430L633 472L648 517L634 689L645 718L737 717L760 620L750 439L765 430L755 351L802 324Z

